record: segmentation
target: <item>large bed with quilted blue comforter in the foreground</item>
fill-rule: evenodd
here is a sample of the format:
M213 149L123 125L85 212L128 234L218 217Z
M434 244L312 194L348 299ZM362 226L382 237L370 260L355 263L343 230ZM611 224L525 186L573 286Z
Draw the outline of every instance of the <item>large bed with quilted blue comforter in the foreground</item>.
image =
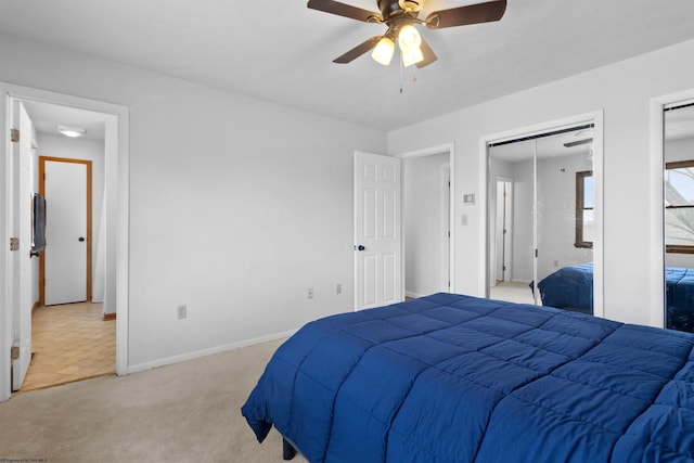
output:
M241 411L310 462L694 462L694 335L435 294L308 323Z

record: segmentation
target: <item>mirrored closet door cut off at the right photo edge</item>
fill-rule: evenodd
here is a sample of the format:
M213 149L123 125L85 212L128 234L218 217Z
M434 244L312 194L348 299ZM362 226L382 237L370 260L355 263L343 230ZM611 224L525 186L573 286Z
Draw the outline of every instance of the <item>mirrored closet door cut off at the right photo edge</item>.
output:
M694 101L664 123L665 326L694 333Z

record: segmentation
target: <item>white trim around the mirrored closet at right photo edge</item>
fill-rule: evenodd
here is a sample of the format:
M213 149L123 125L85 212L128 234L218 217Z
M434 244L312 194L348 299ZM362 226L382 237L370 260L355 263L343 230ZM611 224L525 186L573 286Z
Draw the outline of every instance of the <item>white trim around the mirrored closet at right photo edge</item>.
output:
M665 140L663 137L664 116L663 110L673 103L684 102L694 99L694 89L685 90L667 95L651 99L651 280L661 282L653 284L651 288L651 312L648 313L648 324L656 327L665 327L665 211L664 198L664 151Z

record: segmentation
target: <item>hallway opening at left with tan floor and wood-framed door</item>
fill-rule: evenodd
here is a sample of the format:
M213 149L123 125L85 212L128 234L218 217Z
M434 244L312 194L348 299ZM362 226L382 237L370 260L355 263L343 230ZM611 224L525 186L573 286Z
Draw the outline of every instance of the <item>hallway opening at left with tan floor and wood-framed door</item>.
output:
M101 220L104 117L44 102L24 105L35 121L47 241L38 253L39 304L31 317L31 364L20 391L115 372L115 321L106 317L103 304L103 248L92 246L105 234ZM67 124L75 131L82 130L82 137L56 130Z

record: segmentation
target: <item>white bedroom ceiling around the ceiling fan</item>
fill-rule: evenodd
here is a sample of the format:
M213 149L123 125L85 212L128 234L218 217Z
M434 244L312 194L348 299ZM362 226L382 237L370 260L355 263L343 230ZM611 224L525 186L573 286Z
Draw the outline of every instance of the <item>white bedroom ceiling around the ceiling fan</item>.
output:
M422 16L471 3L428 0ZM395 60L332 63L385 26L306 0L0 0L0 34L384 130L694 38L692 0L509 0L498 23L424 29L439 60L413 82Z

